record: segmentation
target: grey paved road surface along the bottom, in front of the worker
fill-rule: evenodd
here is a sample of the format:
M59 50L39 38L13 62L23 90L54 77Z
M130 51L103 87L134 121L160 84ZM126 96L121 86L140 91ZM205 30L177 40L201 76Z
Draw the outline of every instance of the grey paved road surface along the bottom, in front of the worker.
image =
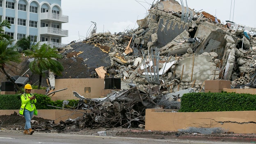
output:
M179 139L148 139L131 137L107 137L60 133L0 132L0 144L248 144L242 142L207 142Z

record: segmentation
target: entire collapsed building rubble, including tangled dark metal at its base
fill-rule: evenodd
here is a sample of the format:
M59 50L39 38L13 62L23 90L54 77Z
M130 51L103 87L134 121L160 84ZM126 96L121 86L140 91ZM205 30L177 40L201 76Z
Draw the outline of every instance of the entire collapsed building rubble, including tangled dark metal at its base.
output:
M96 27L96 23L95 27ZM130 89L88 99L79 94L76 109L83 117L65 124L85 126L138 126L151 107L179 109L182 91L203 92L205 80L231 80L232 88L255 88L256 38L251 29L229 27L207 12L195 12L175 0L159 1L138 20L139 27L111 34L91 32L78 43L60 48L62 62L81 62L79 75L64 71L57 78L115 77ZM86 51L86 53L83 53ZM86 69L82 69L86 67Z

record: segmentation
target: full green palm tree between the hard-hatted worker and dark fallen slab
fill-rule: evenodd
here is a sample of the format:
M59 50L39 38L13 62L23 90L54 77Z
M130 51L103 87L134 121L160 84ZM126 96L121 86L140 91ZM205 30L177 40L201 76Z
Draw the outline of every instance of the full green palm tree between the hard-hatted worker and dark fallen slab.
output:
M31 50L24 50L25 55L34 58L34 61L30 63L29 67L32 73L39 75L38 89L41 87L42 76L45 71L52 71L56 75L61 75L64 67L62 63L56 59L62 58L62 55L58 54L57 48L51 48L50 45L43 44L32 46Z

